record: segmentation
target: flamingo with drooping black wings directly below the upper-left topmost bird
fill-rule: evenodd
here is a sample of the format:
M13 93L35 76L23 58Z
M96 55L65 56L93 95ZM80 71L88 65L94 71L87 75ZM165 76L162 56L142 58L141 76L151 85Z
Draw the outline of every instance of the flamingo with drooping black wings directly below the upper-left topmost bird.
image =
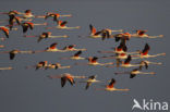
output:
M35 24L32 22L24 22L24 23L22 23L23 33L26 33L28 28L31 28L33 30L34 26L36 26L36 25L47 25L47 23Z

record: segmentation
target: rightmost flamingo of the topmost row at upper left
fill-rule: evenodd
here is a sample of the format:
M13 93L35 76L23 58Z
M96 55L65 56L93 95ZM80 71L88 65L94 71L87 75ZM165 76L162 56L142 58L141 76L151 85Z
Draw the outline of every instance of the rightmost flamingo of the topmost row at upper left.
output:
M48 17L53 17L53 21L58 21L59 17L61 16L72 16L71 14L66 14L66 15L61 15L59 13L51 13L51 12L48 12L46 15L45 15L45 20L47 20Z

